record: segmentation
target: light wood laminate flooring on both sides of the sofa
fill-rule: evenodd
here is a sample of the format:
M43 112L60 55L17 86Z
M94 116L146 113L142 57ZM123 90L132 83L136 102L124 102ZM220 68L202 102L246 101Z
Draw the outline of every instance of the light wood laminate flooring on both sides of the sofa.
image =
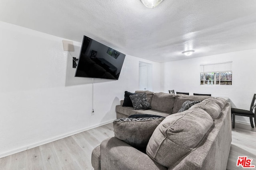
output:
M92 170L92 150L113 136L113 124L109 123L1 158L0 170ZM256 129L250 125L236 123L232 129L228 170L243 169L236 166L238 156L248 156L253 159L252 165L256 165Z

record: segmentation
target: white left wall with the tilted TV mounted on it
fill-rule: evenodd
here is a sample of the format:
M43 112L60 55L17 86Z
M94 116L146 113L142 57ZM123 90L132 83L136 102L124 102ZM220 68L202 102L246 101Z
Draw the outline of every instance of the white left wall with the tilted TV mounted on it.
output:
M94 80L91 115L92 78L74 77L72 68L81 43L71 56L62 38L4 22L0 37L0 157L113 121L124 91L138 89L139 61L160 74L160 63L126 55L119 80Z

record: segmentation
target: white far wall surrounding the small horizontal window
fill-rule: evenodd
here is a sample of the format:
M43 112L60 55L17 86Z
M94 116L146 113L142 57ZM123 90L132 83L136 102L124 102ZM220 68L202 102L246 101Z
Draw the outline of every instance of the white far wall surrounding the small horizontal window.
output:
M200 85L200 64L232 63L231 86ZM230 98L232 107L249 109L252 96L256 93L256 49L225 53L162 63L162 84L164 92L189 92L226 96ZM236 117L238 121L250 122L248 117Z

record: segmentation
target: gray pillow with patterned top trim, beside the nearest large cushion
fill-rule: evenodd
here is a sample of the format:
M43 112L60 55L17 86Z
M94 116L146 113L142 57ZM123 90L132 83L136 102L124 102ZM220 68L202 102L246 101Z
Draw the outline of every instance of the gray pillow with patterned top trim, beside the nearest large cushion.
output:
M152 133L163 120L162 117L116 119L113 122L114 134L137 149L145 149Z

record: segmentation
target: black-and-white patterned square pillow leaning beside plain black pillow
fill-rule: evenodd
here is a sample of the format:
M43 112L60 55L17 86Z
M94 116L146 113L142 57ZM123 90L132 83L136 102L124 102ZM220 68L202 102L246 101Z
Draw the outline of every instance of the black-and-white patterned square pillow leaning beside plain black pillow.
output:
M148 103L146 93L130 95L130 99L132 101L132 106L135 110L151 108L150 103Z

